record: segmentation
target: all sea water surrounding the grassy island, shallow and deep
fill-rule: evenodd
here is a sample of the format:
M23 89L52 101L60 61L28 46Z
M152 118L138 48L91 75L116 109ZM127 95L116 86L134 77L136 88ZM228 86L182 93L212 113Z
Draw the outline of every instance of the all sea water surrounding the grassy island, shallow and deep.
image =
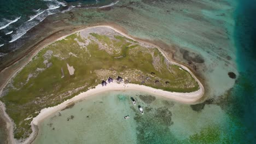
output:
M39 15L28 20L42 13L41 10L50 9L47 13L56 13L54 20L57 21L70 16L61 13L67 10L61 3L68 8L79 3L96 3L38 1L39 6L20 11L9 6L15 11L9 14L6 11L11 2L8 2L1 1L0 5L2 55L9 51L5 44L18 38L15 35L22 23L40 23ZM35 4L34 1L26 2ZM57 4L49 6L48 3ZM184 59L191 61L197 66L195 70L210 87L209 99L202 104L185 105L154 95L149 98L153 101L143 101L139 95L147 94L141 92L102 93L60 111L61 116L54 113L46 118L40 124L35 143L49 143L53 139L56 143L255 143L255 0L120 1L116 5L97 13L72 9L74 19L64 22L86 25L100 20L114 21L135 37L179 46L183 50L176 51L181 52L176 55L181 55L181 59L174 58L181 62ZM53 20L49 18L48 21ZM236 74L235 79L228 76L229 72ZM135 97L143 106L144 115L131 105L130 97ZM130 119L125 120L125 115L130 115Z

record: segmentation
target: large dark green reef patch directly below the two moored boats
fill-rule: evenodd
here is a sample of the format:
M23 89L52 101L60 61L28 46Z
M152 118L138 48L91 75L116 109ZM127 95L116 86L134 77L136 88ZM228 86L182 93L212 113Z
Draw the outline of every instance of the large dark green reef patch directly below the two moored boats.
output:
M137 112L134 107L132 110ZM169 129L173 124L171 111L166 107L145 107L145 110L144 115L137 112L134 117L137 123L137 143L178 143Z

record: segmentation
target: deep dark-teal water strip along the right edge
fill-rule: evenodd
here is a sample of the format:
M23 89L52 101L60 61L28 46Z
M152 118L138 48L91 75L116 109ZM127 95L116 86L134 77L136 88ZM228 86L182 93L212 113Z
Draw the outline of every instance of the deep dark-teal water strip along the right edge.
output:
M235 13L235 41L240 76L231 91L229 111L241 122L243 142L256 141L256 1L240 0Z

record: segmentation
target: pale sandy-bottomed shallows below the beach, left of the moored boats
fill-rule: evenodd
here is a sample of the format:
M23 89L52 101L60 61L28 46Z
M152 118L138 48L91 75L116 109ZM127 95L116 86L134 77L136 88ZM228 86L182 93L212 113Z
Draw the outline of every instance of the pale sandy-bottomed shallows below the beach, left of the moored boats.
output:
M135 115L130 102L117 92L86 98L45 119L35 143L135 143L136 123L124 119Z

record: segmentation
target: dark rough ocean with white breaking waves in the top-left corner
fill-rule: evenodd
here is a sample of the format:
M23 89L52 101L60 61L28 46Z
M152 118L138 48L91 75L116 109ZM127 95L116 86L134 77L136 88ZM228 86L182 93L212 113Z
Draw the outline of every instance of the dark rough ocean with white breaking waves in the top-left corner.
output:
M111 0L1 0L0 57L14 51L15 47L11 46L11 43L21 38L49 15L66 13L75 7L90 9L114 3L115 1ZM5 47L7 45L11 49Z

